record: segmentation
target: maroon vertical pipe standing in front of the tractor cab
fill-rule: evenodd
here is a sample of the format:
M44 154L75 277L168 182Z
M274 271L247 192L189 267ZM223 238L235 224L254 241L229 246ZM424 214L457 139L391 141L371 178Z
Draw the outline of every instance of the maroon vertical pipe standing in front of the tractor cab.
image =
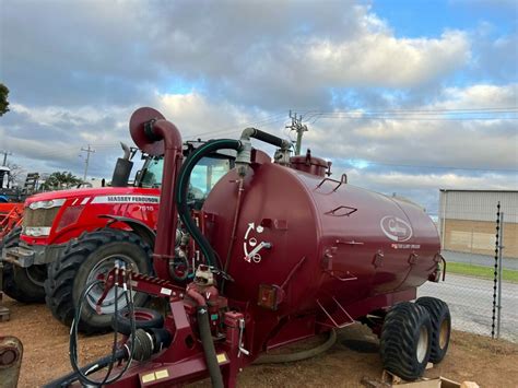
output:
M176 126L165 119L149 121L144 126L144 131L150 140L164 140L164 174L153 266L158 278L169 279L168 260L175 257L175 238L178 224L174 193L176 178L184 158L181 136Z

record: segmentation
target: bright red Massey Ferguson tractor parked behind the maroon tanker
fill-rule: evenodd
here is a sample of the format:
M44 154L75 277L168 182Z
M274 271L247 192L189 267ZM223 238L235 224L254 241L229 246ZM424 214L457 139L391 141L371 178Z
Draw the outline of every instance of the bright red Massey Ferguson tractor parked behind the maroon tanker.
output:
M183 152L187 155L199 144L186 143ZM44 192L25 201L23 224L7 237L2 255L7 295L25 303L46 301L54 316L70 325L85 284L111 269L115 260L153 273L164 151L160 145L145 150L145 162L133 186L127 185L132 162L130 150L125 151L114 173L116 187ZM193 207L228 172L231 163L227 155L211 155L199 165L190 189ZM172 238L181 239L181 230ZM175 279L186 279L193 255L181 255L172 262ZM104 315L95 314L101 291L91 293L83 309L81 330L85 332L109 328L115 301L109 295L99 307ZM139 306L146 301L144 294L134 295Z

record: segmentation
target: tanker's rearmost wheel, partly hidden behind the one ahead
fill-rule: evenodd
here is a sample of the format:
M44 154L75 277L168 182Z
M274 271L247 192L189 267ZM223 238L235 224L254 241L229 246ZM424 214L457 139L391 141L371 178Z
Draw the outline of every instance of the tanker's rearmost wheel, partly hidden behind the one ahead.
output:
M438 364L448 351L449 336L451 333L451 316L446 303L436 297L423 296L415 303L426 308L432 319L432 351L429 361Z

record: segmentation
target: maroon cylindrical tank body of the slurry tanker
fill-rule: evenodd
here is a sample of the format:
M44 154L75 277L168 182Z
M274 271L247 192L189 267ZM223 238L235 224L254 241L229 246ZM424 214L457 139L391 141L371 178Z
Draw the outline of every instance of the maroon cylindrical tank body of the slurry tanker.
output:
M436 271L437 230L417 205L352 186L345 176L274 163L254 163L246 175L233 239L238 180L235 171L223 177L203 210L220 258L235 240L227 264L235 282L225 292L257 301L256 319L316 310L321 322L341 326L393 298L414 298ZM264 297L276 298L269 313L260 306Z

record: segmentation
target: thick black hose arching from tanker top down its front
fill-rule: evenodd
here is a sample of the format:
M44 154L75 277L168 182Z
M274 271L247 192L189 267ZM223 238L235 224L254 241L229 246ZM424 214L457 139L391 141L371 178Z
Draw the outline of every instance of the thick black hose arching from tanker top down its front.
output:
M204 156L216 152L217 150L236 150L239 151L242 143L238 140L232 139L220 139L211 140L205 144L201 145L198 150L191 153L184 162L180 172L178 174L178 180L175 189L175 200L178 209L178 215L186 226L189 234L192 236L195 242L200 247L201 252L205 257L209 266L220 269L214 251L209 240L203 236L200 228L197 226L195 220L191 216L190 209L187 204L187 195L189 192L189 180L192 169L197 163Z

